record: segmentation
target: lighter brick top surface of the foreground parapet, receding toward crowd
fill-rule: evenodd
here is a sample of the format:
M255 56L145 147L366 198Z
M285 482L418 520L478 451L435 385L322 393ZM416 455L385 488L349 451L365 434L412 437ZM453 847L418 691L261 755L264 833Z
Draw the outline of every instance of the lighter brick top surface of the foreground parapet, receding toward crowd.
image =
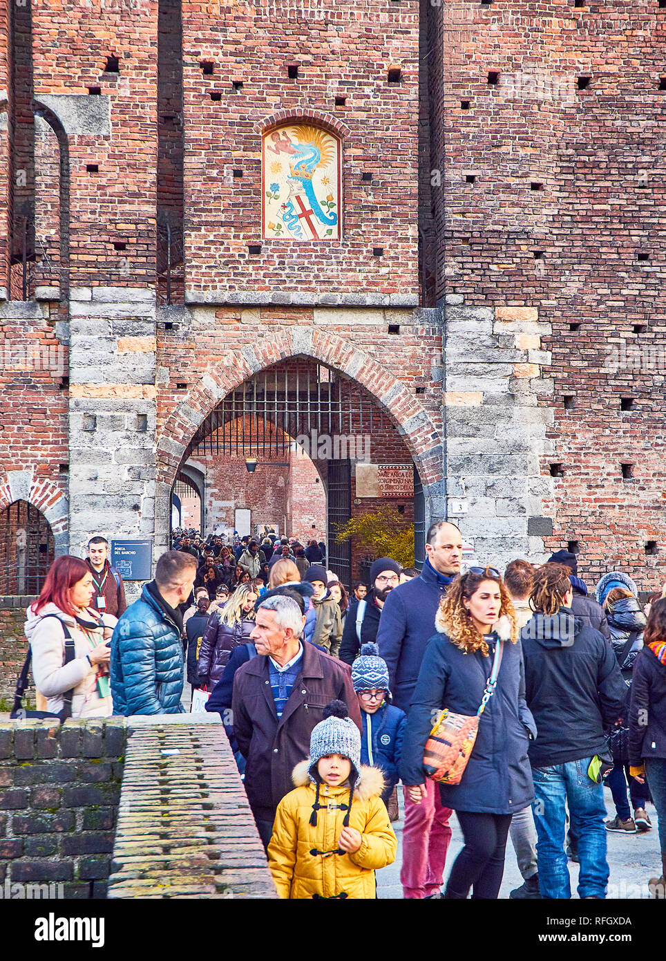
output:
M129 720L109 898L276 898L216 717Z

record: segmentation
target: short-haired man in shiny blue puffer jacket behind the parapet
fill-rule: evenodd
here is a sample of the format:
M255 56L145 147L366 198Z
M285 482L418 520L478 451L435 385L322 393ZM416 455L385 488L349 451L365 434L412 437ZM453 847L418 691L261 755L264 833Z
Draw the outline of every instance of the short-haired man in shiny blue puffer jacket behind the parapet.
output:
M113 713L180 714L183 681L183 604L192 593L197 561L168 551L157 561L155 580L144 585L118 621L111 638Z

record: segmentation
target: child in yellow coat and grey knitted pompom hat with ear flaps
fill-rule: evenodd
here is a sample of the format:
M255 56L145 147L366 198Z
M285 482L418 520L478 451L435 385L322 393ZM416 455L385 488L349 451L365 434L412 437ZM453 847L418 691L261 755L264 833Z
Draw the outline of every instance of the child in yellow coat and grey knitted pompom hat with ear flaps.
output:
M395 860L384 778L361 766L361 733L342 701L323 709L295 791L277 805L269 864L280 898L376 898L374 872Z

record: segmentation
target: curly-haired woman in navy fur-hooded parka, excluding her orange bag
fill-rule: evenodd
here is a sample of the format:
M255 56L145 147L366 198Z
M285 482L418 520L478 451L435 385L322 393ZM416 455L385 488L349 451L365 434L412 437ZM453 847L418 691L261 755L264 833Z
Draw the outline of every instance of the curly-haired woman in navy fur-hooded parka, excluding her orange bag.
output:
M440 783L441 803L453 808L464 849L451 869L444 898L496 899L514 811L534 798L527 757L535 723L525 703L520 644L513 604L498 571L472 567L452 581L435 620L410 707L400 776L412 801L425 795L423 750L440 711L476 715L497 651L493 696L459 784Z

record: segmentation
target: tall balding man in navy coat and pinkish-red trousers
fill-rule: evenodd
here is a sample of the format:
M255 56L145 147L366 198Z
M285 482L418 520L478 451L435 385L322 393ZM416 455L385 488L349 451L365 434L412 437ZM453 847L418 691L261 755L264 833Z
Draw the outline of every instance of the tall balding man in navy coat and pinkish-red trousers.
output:
M377 631L379 654L387 663L393 703L407 713L435 615L448 585L460 574L463 539L455 524L431 524L426 559L418 578L393 588L382 609ZM349 615L347 615L348 619ZM400 881L405 898L434 898L440 891L451 840L451 809L444 807L434 781L420 804L405 795Z

